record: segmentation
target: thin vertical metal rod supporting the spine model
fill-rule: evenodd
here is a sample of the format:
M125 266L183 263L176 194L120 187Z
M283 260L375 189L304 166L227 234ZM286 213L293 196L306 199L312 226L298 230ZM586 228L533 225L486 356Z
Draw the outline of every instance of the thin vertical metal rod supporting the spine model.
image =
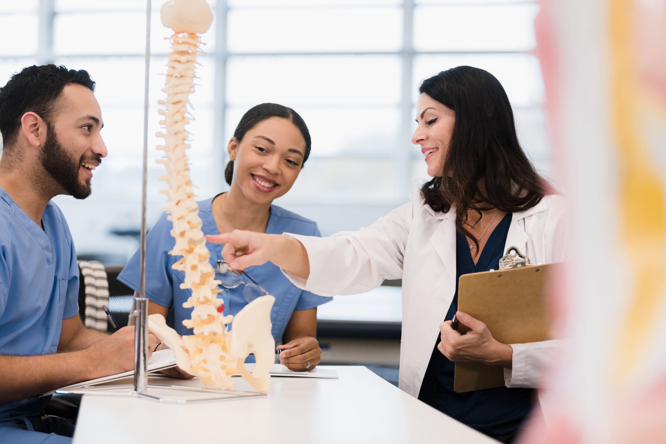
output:
M148 184L148 85L151 71L151 0L146 0L146 67L143 91L143 183L141 186L141 247L139 248L139 294L135 294L134 389L147 393L148 300L146 299L146 206Z

